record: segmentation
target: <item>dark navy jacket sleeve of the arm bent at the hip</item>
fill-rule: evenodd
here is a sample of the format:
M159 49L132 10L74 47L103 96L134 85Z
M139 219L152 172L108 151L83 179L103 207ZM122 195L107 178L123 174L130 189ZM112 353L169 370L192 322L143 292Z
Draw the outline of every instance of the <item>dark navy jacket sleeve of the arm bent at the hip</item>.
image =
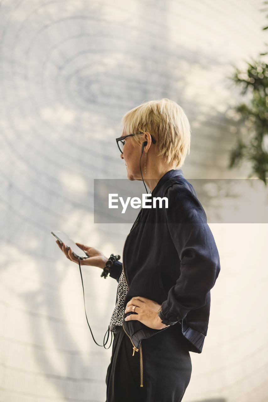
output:
M167 225L180 259L179 277L171 287L162 312L171 322L206 304L206 295L219 275L219 253L206 213L190 190L174 184L167 190Z

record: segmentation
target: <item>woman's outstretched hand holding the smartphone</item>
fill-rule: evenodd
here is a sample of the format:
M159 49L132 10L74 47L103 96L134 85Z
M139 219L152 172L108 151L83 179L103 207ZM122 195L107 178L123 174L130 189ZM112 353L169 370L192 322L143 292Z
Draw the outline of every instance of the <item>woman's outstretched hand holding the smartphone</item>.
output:
M57 240L56 243L69 260L78 264L78 258L74 256L71 248L67 250L66 244L64 243L61 244L59 240ZM85 246L84 244L81 243L76 244L78 247L82 248L82 250L84 250L85 253L88 255L88 258L80 259L80 265L91 265L93 267L98 267L101 269L105 267L108 258L105 257L105 255L101 251L97 250L97 248Z

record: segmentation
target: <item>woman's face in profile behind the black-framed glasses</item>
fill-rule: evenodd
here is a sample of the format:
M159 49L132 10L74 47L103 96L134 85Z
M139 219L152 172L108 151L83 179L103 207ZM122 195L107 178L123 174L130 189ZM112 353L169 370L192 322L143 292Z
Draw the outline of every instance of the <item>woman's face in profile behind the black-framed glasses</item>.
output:
M141 156L142 145L133 144L132 137L126 137L124 141L125 144L123 147L123 154L121 154L120 156L125 161L126 170L128 173L128 179L141 180L140 156Z

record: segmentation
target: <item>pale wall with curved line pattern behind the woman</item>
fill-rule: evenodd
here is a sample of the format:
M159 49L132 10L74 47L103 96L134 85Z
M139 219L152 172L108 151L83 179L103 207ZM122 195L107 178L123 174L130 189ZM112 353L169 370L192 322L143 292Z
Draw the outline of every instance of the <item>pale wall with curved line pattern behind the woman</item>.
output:
M145 99L192 125L183 174L227 170L239 91L232 65L264 50L262 2L3 0L0 7L0 400L105 400L111 349L87 326L79 268L51 230L122 254L131 224L93 222L93 179L125 178L115 137ZM210 224L221 258L201 355L183 400L264 402L267 224ZM117 283L82 268L99 342Z

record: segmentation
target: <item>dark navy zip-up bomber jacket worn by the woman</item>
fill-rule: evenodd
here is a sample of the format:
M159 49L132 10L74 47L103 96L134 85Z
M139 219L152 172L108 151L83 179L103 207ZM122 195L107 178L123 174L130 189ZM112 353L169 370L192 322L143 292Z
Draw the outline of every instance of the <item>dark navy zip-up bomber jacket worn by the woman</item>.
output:
M140 209L124 244L123 263L116 261L110 276L118 281L124 269L128 283L124 308L134 296L156 301L167 320L179 322L175 325L181 325L189 350L201 353L210 289L220 271L219 253L206 213L182 170L165 173L153 197L167 197L168 208L163 202L162 208ZM123 328L137 350L142 339L169 327L155 330L140 321L123 320Z

